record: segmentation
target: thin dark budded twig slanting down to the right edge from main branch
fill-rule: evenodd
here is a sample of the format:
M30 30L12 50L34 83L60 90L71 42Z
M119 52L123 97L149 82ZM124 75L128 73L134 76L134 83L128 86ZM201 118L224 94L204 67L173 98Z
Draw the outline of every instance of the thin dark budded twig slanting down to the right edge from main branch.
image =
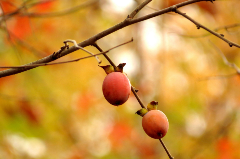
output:
M213 30L211 30L211 29L203 26L202 24L198 23L197 21L195 21L194 19L192 19L191 17L189 17L186 13L180 12L177 8L175 8L173 11L174 11L175 13L177 13L177 14L185 17L186 19L190 20L192 23L194 23L194 24L197 26L197 29L203 28L204 30L208 31L209 33L217 36L218 38L220 38L220 39L222 39L223 41L225 41L226 43L228 43L228 45L229 45L230 47L236 46L236 47L240 48L240 45L238 45L238 44L236 44L236 43L234 43L234 42L232 42L232 41L224 38L224 35L223 35L223 34L219 34L219 33L215 32L215 31L213 31Z

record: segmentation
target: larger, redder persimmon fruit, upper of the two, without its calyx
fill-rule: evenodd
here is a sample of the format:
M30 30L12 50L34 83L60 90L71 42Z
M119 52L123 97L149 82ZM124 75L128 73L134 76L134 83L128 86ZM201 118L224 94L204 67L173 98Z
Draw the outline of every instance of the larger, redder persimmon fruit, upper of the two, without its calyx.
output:
M124 73L109 73L102 85L105 99L112 105L122 105L128 100L131 92L131 84Z

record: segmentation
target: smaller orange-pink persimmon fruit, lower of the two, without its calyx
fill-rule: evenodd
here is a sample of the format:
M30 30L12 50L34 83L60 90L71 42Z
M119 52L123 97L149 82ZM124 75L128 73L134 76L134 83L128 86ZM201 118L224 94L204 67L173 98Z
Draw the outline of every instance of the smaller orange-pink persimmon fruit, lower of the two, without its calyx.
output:
M151 138L163 138L169 128L167 116L162 111L151 110L143 116L142 127Z

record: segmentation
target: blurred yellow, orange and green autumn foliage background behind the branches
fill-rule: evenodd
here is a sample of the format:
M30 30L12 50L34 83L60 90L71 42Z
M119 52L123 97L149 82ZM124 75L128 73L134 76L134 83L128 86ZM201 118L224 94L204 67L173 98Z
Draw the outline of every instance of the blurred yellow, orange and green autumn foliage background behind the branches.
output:
M1 0L0 66L48 56L66 39L86 40L123 21L141 2ZM153 0L136 17L180 2ZM180 11L240 44L239 7L238 1L199 2ZM239 159L240 77L212 43L240 66L239 48L175 13L128 26L98 44L107 50L131 38L108 55L127 63L124 71L145 105L159 102L170 124L163 138L170 153L177 159ZM76 51L57 61L87 55ZM133 94L119 107L104 99L105 76L89 58L0 78L0 158L167 159L160 142L144 133Z

